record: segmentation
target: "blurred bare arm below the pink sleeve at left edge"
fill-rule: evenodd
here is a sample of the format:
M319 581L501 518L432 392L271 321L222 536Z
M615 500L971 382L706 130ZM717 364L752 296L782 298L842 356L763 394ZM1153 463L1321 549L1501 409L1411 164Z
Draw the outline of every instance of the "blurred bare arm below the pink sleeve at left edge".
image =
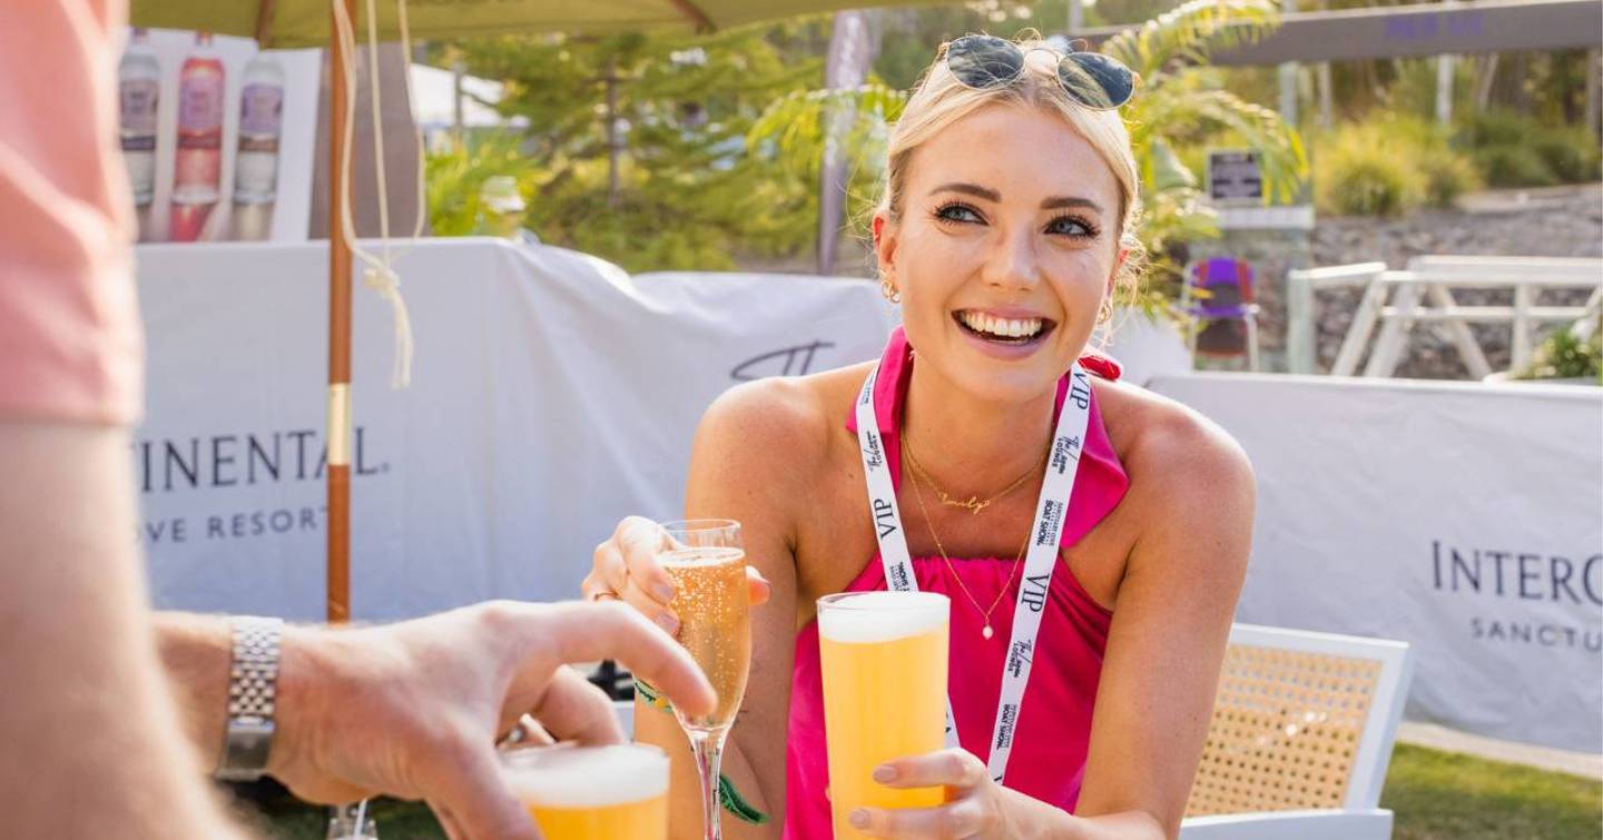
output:
M0 834L242 837L164 691L127 433L0 422Z

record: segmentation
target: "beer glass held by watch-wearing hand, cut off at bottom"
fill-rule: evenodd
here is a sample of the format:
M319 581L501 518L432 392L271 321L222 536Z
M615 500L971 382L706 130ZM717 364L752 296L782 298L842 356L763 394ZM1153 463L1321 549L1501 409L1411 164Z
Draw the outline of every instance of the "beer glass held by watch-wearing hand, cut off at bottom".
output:
M502 773L545 840L668 837L668 757L656 747L510 750Z

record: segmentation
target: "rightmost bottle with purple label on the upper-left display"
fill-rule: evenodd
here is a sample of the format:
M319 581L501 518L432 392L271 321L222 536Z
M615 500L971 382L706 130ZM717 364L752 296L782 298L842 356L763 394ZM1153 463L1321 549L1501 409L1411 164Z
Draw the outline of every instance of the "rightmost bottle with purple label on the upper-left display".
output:
M268 239L279 183L284 67L266 53L245 66L239 95L239 154L234 157L234 239Z

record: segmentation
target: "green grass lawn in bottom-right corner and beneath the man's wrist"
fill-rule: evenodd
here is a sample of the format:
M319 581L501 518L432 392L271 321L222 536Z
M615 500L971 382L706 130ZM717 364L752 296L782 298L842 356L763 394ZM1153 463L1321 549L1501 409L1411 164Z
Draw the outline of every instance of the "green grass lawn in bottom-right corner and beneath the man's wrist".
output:
M1603 782L1407 744L1391 757L1380 805L1396 811L1395 840L1598 840L1603 830ZM269 837L324 840L322 808L289 797L242 808ZM382 840L446 837L422 805L378 802L373 813Z

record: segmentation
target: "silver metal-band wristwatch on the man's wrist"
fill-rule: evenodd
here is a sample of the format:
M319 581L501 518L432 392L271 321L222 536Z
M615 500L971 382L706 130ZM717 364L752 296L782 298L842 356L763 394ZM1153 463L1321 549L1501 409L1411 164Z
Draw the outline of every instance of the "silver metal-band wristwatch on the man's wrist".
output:
M232 619L234 656L228 665L228 733L216 777L253 782L268 768L279 696L282 619Z

